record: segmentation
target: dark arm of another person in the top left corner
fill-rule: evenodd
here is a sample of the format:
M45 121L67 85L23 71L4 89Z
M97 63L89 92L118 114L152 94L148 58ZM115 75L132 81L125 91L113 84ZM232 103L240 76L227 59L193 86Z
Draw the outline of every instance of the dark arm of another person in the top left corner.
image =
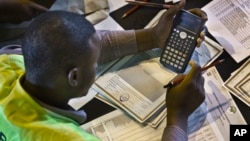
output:
M29 0L2 0L0 1L0 22L20 23L47 10Z

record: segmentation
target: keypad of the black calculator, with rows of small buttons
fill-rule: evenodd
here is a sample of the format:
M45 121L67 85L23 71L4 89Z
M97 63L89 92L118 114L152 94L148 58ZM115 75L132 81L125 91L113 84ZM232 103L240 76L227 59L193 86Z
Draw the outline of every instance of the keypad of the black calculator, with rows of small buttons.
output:
M193 52L195 41L195 36L190 32L174 28L163 50L161 63L176 72L184 71Z

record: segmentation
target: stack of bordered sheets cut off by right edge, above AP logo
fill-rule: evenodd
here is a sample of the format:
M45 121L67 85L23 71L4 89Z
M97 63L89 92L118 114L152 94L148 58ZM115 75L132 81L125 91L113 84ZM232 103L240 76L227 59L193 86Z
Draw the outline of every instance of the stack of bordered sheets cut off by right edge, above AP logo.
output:
M224 86L236 97L250 106L250 59L232 73Z

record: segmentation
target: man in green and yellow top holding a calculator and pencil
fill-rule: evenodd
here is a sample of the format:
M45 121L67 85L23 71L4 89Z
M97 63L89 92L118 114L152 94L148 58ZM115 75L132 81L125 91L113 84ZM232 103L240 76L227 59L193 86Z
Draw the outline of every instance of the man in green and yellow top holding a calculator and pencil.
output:
M25 141L99 140L78 126L86 114L72 110L68 100L88 92L97 64L163 47L173 16L184 3L169 9L155 27L135 31L95 31L82 16L63 11L37 17L23 39L22 52L19 46L1 50L1 135ZM187 118L205 98L200 67L190 64L185 80L168 90L163 140L187 140Z

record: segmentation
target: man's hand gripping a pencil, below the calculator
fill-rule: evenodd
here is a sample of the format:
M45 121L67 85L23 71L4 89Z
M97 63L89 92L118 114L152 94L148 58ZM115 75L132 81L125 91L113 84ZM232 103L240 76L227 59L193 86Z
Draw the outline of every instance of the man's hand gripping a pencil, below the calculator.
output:
M179 85L169 88L166 96L167 124L179 126L184 131L189 115L205 100L201 68L193 61L190 65L192 69L185 79Z

